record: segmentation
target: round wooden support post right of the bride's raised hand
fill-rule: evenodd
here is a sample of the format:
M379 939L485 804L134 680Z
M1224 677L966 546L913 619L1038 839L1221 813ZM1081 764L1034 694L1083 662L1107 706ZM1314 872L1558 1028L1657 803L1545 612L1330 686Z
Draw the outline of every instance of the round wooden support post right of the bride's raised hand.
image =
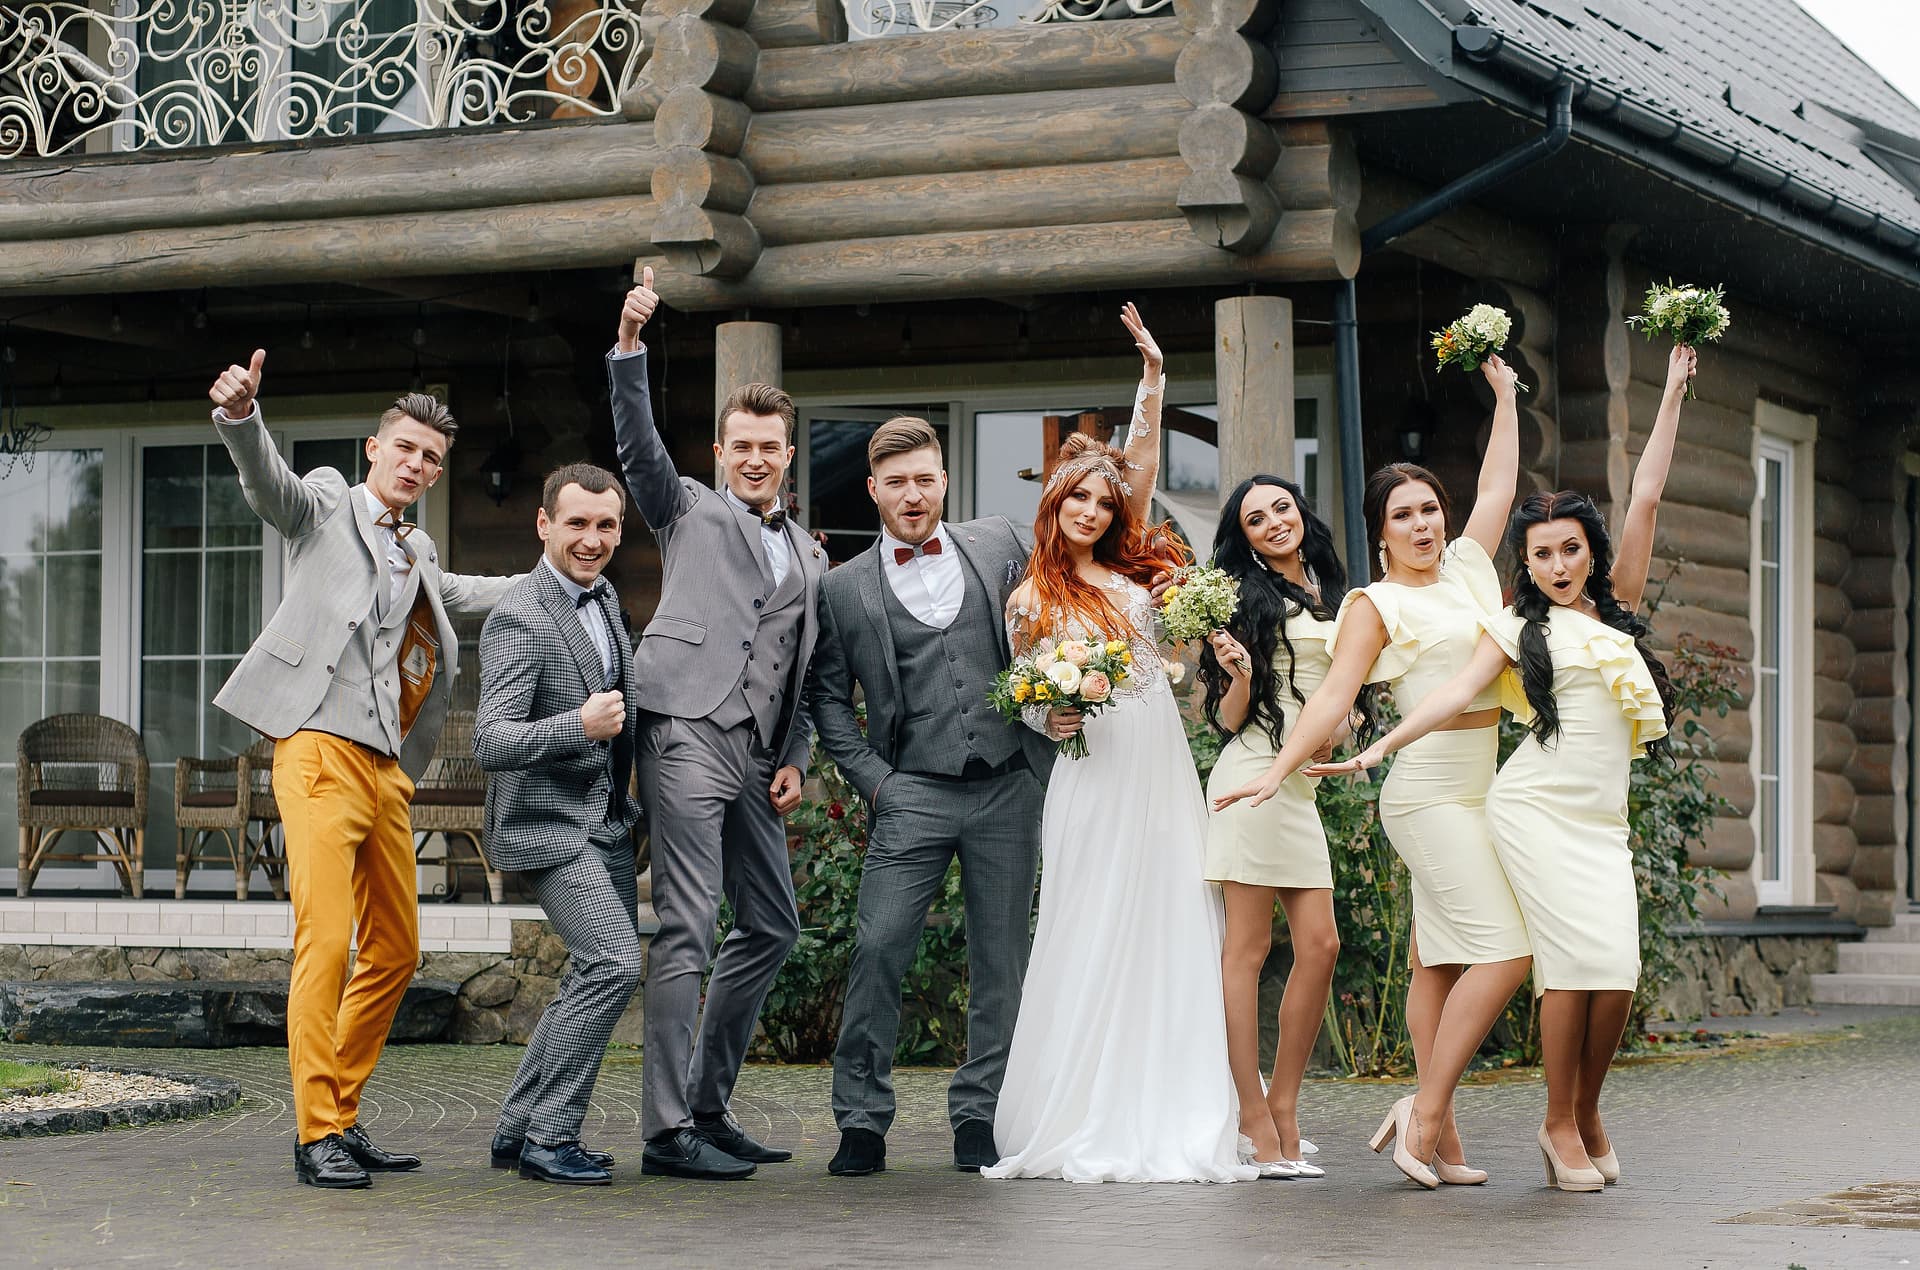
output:
M1213 304L1219 492L1258 473L1294 473L1294 302L1235 296Z

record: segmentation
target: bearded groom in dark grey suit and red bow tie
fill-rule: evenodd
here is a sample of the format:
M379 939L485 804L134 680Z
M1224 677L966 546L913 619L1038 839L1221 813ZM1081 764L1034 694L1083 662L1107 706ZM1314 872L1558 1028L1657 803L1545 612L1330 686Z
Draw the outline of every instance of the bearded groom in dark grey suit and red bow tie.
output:
M1044 772L1054 744L1002 720L987 692L1006 669L1006 598L1027 567L1012 523L945 525L947 471L924 419L889 419L866 450L879 540L820 582L810 705L820 740L866 797L860 920L833 1053L841 1145L828 1172L887 1166L900 980L948 863L966 899L968 1061L948 1116L954 1166L998 1160L993 1112L1027 974ZM854 715L866 696L866 730Z

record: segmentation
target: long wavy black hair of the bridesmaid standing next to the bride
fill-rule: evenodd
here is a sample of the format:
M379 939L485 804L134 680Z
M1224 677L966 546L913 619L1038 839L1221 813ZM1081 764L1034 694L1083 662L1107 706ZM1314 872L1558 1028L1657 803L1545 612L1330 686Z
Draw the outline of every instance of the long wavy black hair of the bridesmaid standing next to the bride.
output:
M1319 598L1308 588L1290 582L1284 574L1267 569L1254 551L1254 544L1246 540L1246 528L1240 526L1240 503L1246 501L1246 496L1256 486L1284 490L1292 496L1294 507L1300 509L1300 525L1304 528L1300 563L1306 565L1308 576L1319 584ZM1286 707L1273 688L1273 653L1284 646L1286 665L1292 665L1294 644L1286 636L1286 607L1292 603L1321 621L1331 621L1346 598L1346 567L1340 565L1340 555L1332 548L1332 530L1313 515L1300 486L1284 476L1267 475L1248 476L1227 496L1227 503L1219 513L1219 528L1213 530L1213 565L1240 582L1240 607L1235 611L1233 621L1227 623L1227 634L1246 647L1246 655L1254 663L1246 696L1246 722L1240 724L1240 730L1260 726L1279 745L1286 722ZM1212 644L1200 646L1200 678L1206 682L1208 722L1221 736L1233 736L1233 730L1219 720L1219 703L1227 696L1233 678L1219 665ZM1306 705L1306 697L1300 696L1298 688L1292 688L1290 678L1288 688L1294 701ZM1367 694L1361 694L1359 711L1367 726L1371 726L1373 713L1365 697Z

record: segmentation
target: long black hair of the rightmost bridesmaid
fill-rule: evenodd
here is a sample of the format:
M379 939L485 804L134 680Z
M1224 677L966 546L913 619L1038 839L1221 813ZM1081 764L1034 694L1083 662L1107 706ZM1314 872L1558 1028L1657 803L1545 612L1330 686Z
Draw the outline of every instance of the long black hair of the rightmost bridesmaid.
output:
M1594 601L1599 621L1632 636L1634 647L1640 649L1642 661L1653 674L1653 684L1661 690L1667 726L1672 726L1674 686L1667 676L1667 663L1647 647L1647 624L1613 594L1613 540L1607 536L1607 523L1592 498L1578 490L1561 490L1559 494L1528 494L1513 513L1513 521L1507 523L1507 546L1521 561L1513 576L1513 611L1526 621L1521 628L1521 684L1526 688L1526 703L1534 707L1534 722L1530 724L1534 738L1546 745L1559 736L1553 655L1548 651L1548 615L1553 613L1553 601L1534 584L1534 574L1526 567L1526 530L1548 521L1580 523L1592 559L1592 571L1586 574L1586 598ZM1670 757L1667 740L1649 742L1647 753Z

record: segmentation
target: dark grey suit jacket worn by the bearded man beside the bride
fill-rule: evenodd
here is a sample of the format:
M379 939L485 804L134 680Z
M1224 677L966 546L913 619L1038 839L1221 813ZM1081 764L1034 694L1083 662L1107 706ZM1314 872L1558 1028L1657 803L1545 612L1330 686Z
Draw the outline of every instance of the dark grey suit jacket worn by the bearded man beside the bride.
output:
M1027 573L1027 540L1006 517L987 517L948 525L966 565L993 601L1000 655L1012 661L1006 642L1006 598ZM879 544L854 555L820 580L820 647L812 663L808 696L820 742L860 790L868 805L879 782L893 774L899 749L900 674L887 624L887 578L881 573ZM852 709L854 684L866 694L866 732ZM1027 767L1041 780L1054 769L1054 742L1033 728L1020 728Z

